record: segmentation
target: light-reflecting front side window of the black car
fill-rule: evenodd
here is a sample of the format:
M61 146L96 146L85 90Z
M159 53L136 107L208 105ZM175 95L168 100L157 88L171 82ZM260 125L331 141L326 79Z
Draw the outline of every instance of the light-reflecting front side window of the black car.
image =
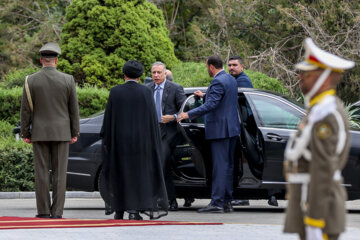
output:
M303 114L286 100L250 94L263 127L297 129Z

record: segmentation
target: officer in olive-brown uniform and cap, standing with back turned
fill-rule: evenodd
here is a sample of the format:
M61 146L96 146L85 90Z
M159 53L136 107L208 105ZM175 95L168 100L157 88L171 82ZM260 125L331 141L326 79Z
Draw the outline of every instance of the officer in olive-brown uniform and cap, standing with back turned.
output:
M36 205L40 218L61 218L65 203L69 143L79 136L79 110L73 76L56 69L61 49L47 43L39 51L42 69L25 80L21 137L33 144ZM51 170L52 203L49 194Z

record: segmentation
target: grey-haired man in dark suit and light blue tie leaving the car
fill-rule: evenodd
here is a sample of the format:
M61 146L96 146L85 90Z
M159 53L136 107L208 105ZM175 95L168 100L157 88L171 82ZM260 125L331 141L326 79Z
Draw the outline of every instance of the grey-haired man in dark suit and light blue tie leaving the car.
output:
M166 80L166 66L162 62L155 62L151 67L153 82L147 84L154 91L156 112L161 130L161 140L164 151L164 176L169 199L169 210L177 211L178 204L172 179L171 156L178 139L176 120L186 96L179 84Z

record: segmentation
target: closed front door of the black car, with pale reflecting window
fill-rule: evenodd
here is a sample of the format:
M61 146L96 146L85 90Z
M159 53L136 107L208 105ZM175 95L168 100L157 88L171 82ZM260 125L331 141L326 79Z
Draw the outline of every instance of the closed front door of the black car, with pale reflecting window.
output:
M263 92L246 92L245 96L264 141L263 184L282 184L286 143L305 113L281 96Z

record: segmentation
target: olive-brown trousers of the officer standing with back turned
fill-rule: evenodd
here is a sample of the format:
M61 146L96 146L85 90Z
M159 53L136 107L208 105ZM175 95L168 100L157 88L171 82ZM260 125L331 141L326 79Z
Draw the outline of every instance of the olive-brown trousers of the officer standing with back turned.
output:
M38 214L62 216L65 204L69 142L33 142ZM50 200L50 177L52 204Z

